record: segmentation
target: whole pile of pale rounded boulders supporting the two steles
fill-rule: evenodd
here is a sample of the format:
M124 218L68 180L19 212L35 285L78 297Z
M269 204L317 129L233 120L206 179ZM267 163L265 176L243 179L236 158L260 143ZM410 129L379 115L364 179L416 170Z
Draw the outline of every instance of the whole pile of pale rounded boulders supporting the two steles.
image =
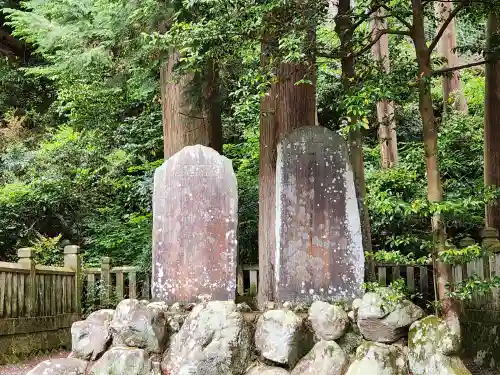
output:
M352 303L124 300L72 327L71 358L27 375L470 375L459 328L389 289ZM47 371L47 372L44 372Z

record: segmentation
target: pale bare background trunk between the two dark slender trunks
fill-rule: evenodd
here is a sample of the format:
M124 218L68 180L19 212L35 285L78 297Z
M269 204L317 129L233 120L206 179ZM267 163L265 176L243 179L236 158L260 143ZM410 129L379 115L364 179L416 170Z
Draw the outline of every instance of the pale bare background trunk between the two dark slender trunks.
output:
M387 28L382 18L384 12L379 9L372 20L372 35L375 37L379 30ZM382 35L372 48L374 59L383 67L385 73L391 70L389 59L389 36ZM383 169L391 168L398 162L398 145L396 137L396 120L394 118L394 103L382 100L377 103L377 119L379 123L379 144L381 166Z

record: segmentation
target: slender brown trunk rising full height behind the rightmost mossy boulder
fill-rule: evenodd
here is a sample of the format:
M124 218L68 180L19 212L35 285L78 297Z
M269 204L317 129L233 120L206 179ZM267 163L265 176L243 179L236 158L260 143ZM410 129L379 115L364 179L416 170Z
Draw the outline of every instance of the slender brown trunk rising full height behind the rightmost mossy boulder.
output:
M431 60L429 48L425 40L424 13L422 0L412 0L413 30L412 38L415 45L419 67L419 109L423 123L425 164L427 169L427 199L431 203L443 201L443 189L438 165L438 128L431 96ZM446 295L446 285L451 279L451 267L437 262L437 254L445 250L446 228L441 214L436 212L431 219L434 242L433 259L437 273L437 297L442 302L443 315L453 329L460 329L458 324L457 306Z

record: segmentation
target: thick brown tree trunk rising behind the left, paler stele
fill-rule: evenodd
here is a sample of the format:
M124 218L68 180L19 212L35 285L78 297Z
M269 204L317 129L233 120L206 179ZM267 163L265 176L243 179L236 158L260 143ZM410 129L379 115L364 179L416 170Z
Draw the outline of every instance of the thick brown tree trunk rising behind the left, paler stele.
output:
M193 75L174 81L178 53L171 53L160 72L163 111L164 158L168 159L185 146L201 144L221 152L222 128L217 101L217 72L210 66L204 77L202 109L190 103L187 87Z

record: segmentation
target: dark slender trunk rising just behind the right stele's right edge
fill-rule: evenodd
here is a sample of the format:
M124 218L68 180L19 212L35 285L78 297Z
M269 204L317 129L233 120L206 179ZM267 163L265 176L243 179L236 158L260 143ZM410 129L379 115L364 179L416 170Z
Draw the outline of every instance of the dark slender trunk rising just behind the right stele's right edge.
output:
M350 18L351 4L350 0L339 0L338 13L336 16L336 32L340 38L340 54L342 65L342 83L346 92L353 91L353 81L356 78L354 66L354 54L351 50L352 46L352 21ZM361 137L361 129L357 127L358 119L351 118L353 128L349 132L349 151L352 169L354 172L354 179L356 180L356 187L358 193L359 209L361 216L361 229L363 236L363 250L365 252L372 251L371 241L371 224L368 207L365 205L364 199L366 196L365 184L365 169L363 157L363 141ZM369 263L369 277L375 277L375 265L373 262Z

